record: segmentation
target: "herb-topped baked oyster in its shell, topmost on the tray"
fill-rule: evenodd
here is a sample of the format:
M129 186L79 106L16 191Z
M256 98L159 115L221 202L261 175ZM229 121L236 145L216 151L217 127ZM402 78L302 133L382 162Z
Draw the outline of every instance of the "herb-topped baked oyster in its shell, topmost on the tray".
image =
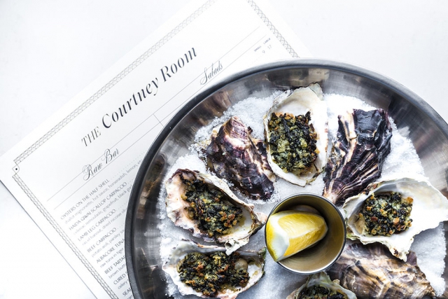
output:
M277 176L299 186L323 171L328 146L327 106L321 87L283 92L263 117L267 160Z

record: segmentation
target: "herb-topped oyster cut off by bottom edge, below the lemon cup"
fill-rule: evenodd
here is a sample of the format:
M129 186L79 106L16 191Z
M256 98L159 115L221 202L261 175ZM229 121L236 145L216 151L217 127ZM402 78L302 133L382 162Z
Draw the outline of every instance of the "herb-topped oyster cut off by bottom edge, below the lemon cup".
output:
M325 272L318 272L308 277L307 282L290 293L286 299L356 299L356 295L339 285L338 280L331 281Z

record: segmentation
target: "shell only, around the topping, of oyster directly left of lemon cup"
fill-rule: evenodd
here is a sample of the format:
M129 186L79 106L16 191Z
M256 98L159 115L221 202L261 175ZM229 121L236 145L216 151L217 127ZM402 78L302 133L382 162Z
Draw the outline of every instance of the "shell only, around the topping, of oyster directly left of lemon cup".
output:
M224 193L223 202L232 207L241 208L242 216L236 225L225 234L210 236L200 229L200 220L192 219L188 215L189 202L186 198L186 182L200 181L207 185L209 190L219 190ZM267 216L253 211L253 204L246 204L232 193L228 185L216 176L202 174L190 169L177 169L165 183L167 188L167 215L175 225L190 230L195 237L202 237L207 242L225 244L226 253L230 254L249 242L249 237L257 232L266 223Z

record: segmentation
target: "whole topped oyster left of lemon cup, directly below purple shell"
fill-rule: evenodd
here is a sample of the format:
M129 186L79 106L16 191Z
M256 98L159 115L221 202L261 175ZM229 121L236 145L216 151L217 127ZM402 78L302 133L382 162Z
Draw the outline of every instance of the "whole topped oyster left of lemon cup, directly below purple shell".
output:
M267 216L253 211L216 176L177 169L165 183L167 215L175 225L206 242L225 244L230 254L245 245L266 223Z

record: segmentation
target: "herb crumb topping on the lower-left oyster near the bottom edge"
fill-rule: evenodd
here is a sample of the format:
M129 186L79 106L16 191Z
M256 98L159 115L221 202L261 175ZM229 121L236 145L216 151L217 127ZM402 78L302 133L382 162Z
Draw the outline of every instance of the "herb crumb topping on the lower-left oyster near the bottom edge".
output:
M234 252L188 253L179 263L179 276L183 283L208 297L216 297L219 291L246 286L249 280L247 262Z

